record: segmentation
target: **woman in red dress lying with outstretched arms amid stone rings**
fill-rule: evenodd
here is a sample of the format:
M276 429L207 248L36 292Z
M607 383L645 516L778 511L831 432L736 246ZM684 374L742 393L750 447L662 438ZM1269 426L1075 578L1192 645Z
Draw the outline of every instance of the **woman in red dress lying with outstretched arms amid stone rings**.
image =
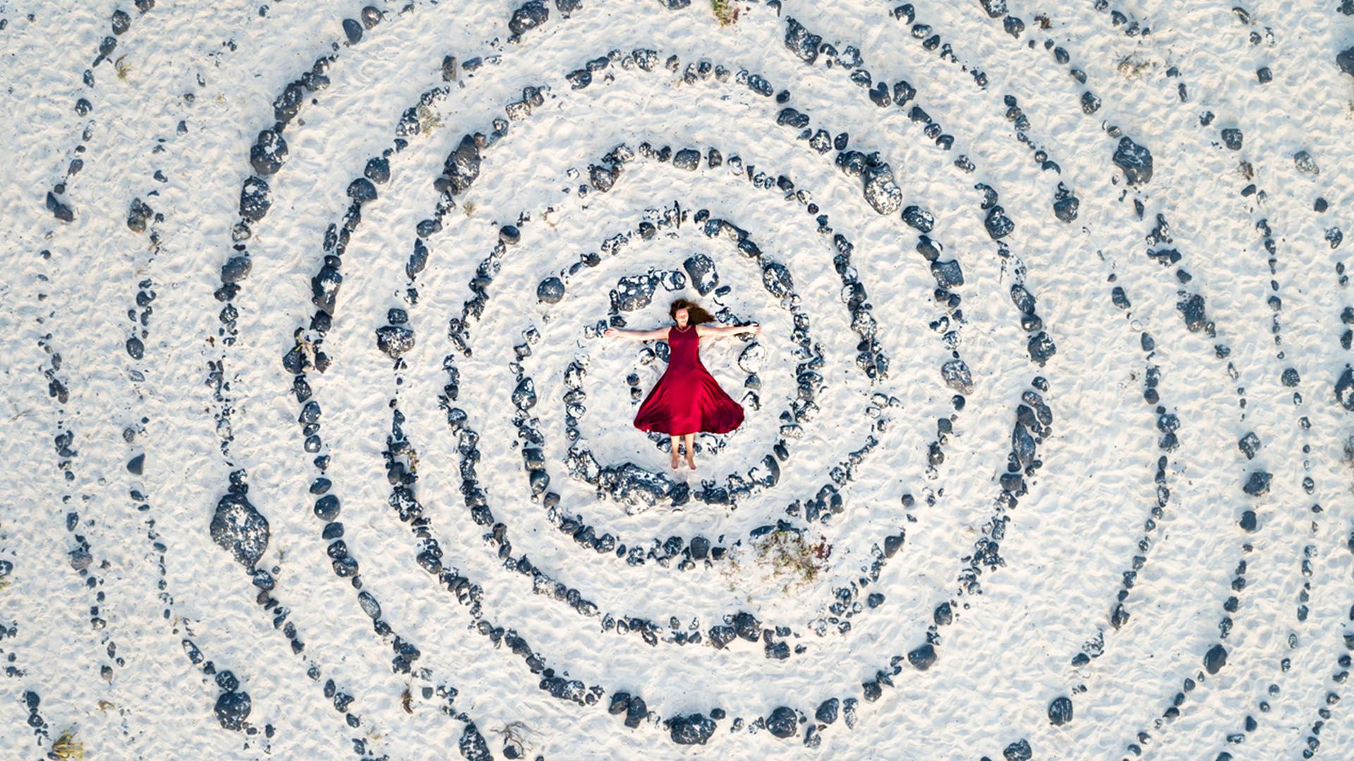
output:
M719 328L704 325L714 317L700 306L677 299L668 309L674 325L655 330L617 330L608 328L607 337L626 337L635 341L668 340L668 370L658 379L639 412L635 414L635 428L658 431L672 439L673 470L677 469L677 445L686 441L686 466L696 470L696 433L727 433L743 422L743 408L723 389L715 376L700 363L701 336L734 336L738 333L761 333L761 325L730 325Z

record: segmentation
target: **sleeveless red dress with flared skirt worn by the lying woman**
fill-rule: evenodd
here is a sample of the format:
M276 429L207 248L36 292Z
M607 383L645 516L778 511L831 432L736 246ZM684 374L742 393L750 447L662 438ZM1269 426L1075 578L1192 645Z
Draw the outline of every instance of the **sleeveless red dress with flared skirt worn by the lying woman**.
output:
M743 422L743 408L700 363L700 336L695 325L668 329L668 371L645 397L635 428L669 436L728 433Z

